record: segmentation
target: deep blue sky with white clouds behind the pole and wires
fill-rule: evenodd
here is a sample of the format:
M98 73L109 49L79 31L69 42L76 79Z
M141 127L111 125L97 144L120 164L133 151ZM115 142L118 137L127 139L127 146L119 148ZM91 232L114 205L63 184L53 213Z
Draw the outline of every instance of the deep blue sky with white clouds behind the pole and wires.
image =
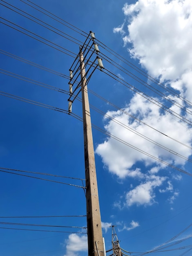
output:
M1 0L0 94L67 110L69 96L46 87L69 90L69 79L58 74L69 76L69 68L79 51L80 43L73 43L21 16L12 10L14 7L80 42L85 41L85 33L94 31L104 71L111 72L116 80L100 70L92 75L88 84L89 101L105 115L91 109L92 124L121 140L93 129L105 247L112 248L109 226L116 225L121 247L133 256L164 243L159 250L171 251L150 255L191 255L191 251L187 252L192 241L189 227L192 215L191 1L32 2L74 25L76 31L30 7L28 4L33 4L27 0ZM18 9L14 10L21 13ZM71 56L63 53L63 48L58 51L8 27L16 27L9 22L27 29L27 34L31 31L46 38L56 48L69 50ZM34 34L31 36L37 37ZM114 56L110 49L123 58ZM10 54L57 74L19 61ZM18 75L20 79L16 78ZM0 255L87 255L87 238L82 234L86 232L85 217L5 218L86 215L83 189L67 185L82 186L81 180L5 169L85 179L82 122L72 115L3 95L0 95ZM74 101L72 112L82 117L80 101ZM179 247L183 249L173 250Z

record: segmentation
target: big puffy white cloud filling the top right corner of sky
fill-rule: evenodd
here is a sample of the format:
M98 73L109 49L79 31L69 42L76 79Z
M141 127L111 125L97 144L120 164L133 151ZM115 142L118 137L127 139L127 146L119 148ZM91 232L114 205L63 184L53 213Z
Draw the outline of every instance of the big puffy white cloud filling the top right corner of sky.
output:
M125 4L123 12L128 22L123 41L131 56L150 75L161 82L170 80L173 88L191 99L192 1L138 0Z

